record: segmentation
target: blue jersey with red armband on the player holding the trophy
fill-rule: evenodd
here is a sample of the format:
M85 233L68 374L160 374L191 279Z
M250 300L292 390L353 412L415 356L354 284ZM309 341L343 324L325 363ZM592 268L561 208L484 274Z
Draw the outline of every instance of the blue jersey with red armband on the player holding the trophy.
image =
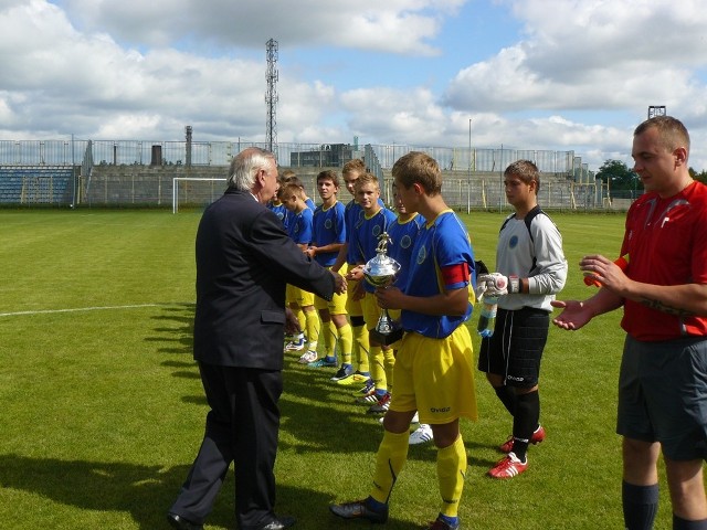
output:
M468 266L469 279L444 285L441 269L462 263ZM473 274L474 251L466 227L452 210L445 210L420 230L412 251L408 284L402 290L410 296L430 297L444 290L469 288ZM463 316L423 315L403 309L401 322L407 331L443 339L468 320L471 315L471 304Z

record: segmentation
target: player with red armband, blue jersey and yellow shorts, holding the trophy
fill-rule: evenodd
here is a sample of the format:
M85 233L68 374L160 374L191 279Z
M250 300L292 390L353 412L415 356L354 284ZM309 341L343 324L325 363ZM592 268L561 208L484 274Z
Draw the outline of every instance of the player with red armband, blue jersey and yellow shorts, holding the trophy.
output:
M472 339L464 325L472 314L474 253L466 229L442 198L442 173L434 159L409 152L392 174L405 208L426 221L413 247L404 292L389 287L376 293L381 307L401 309L405 335L395 360L395 391L383 420L369 497L329 508L344 519L388 520L390 494L408 458L410 421L419 411L420 421L434 433L442 497L429 528L457 530L466 475L460 417L477 417Z

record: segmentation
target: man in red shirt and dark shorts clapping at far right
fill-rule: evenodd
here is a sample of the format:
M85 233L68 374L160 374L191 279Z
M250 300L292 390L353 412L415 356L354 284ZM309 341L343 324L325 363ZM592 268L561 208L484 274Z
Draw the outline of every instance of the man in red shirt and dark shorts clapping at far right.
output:
M645 194L629 210L621 256L580 268L602 288L584 301L555 301L553 319L574 330L624 307L616 432L623 436L627 529L650 529L657 511L661 451L673 529L707 529L707 187L689 174L689 135L669 116L641 124L632 157Z

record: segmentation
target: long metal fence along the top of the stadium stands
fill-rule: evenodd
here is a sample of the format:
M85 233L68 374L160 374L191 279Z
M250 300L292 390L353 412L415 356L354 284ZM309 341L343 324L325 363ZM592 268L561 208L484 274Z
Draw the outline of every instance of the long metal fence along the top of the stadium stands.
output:
M89 158L94 165L176 165L228 166L233 156L263 142L238 141L163 141L163 140L0 140L0 166L81 165ZM425 147L408 145L349 144L278 144L276 156L285 167L342 166L351 158L367 156L383 169L409 151L423 151L450 170L500 171L518 159L532 160L540 171L566 173L576 181L593 180L581 157L574 151L527 150L479 147ZM339 156L331 163L331 152Z

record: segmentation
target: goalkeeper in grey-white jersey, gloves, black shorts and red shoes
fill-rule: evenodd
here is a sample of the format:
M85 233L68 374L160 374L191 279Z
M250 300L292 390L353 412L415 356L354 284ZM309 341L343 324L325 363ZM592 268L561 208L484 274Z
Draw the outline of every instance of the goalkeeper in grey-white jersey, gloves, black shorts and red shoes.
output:
M513 416L506 453L488 475L513 478L528 467L529 444L545 439L539 424L538 377L550 325L550 301L564 286L562 236L538 206L540 173L518 160L504 172L506 199L515 209L504 221L496 247L496 273L478 277L477 294L498 298L493 335L482 339L478 369ZM481 330L479 330L481 332Z

